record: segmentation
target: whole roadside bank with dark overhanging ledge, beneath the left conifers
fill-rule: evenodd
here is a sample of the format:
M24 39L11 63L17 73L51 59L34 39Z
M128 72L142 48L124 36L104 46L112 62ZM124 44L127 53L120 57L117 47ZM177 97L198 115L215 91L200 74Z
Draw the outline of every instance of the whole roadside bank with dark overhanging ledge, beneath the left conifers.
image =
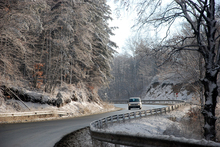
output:
M0 123L61 119L115 111L114 105L101 100L88 101L87 94L86 88L76 88L72 85L57 88L54 94L18 87L11 87L5 93L0 90ZM68 115L62 117L57 114L58 111L64 111ZM52 112L52 115L4 117L4 114L25 112Z

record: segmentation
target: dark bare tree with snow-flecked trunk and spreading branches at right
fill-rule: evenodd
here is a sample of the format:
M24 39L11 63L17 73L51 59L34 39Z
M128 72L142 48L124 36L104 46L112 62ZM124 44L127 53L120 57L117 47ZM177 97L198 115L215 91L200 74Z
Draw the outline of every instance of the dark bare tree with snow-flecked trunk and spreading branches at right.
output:
M134 1L124 3L129 7ZM133 3L132 3L133 2ZM146 28L149 24L155 27L168 26L167 34L177 20L185 20L191 27L192 33L179 37L176 43L161 45L159 50L166 50L171 57L180 50L199 52L205 61L205 76L201 79L204 85L205 105L202 110L204 116L204 136L207 140L215 140L215 108L218 96L217 75L220 69L220 37L217 32L215 0L172 0L163 5L162 0L136 1L139 28ZM179 19L181 18L181 19ZM187 44L185 42L194 43Z

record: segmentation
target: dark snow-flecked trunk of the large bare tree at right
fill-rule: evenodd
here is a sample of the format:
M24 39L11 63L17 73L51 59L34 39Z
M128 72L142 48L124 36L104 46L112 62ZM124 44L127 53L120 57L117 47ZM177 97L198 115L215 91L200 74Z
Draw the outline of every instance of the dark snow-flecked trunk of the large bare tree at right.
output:
M205 59L205 78L203 80L203 85L205 88L205 105L202 111L204 116L204 136L207 140L216 139L215 132L215 108L216 108L216 99L218 96L218 85L217 85L217 75L218 69L216 69L216 65L219 61L215 59L215 33L216 33L216 20L215 20L215 1L209 1L209 7L207 8L207 19L205 19L207 28L206 28L206 36L208 41L207 50L208 52L204 56ZM199 40L198 40L199 41ZM218 55L217 55L218 56ZM216 62L216 63L215 63Z

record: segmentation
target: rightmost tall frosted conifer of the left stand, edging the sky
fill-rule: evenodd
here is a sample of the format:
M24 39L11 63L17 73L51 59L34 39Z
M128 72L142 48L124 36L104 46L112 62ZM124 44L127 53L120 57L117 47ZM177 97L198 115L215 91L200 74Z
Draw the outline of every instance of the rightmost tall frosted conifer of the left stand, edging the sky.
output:
M87 80L89 85L108 84L108 77L110 74L110 62L113 58L113 50L116 44L110 41L110 35L113 35L112 29L108 27L108 20L110 17L110 7L106 5L106 0L88 1L88 7L85 10L89 15L87 16L89 22L89 33L91 36L91 55L90 60L93 65L88 71L91 78Z

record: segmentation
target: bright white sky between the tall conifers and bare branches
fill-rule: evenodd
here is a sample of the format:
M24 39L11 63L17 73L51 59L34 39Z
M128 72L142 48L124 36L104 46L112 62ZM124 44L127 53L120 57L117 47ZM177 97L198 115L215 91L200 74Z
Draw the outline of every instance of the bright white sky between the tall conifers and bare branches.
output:
M161 3L162 6L166 6L168 3L170 3L171 0L166 0ZM117 4L114 3L114 0L108 0L107 2L108 5L110 5L111 10L112 10L112 15L111 17L113 18L112 21L109 21L109 26L110 27L118 27L118 29L114 30L113 32L115 33L115 36L111 36L111 40L116 42L116 44L119 46L117 51L119 53L124 52L124 49L126 50L126 40L131 38L136 34L135 30L132 30L131 27L135 24L135 19L137 18L137 12L135 10L121 10L120 11L120 17L117 16L116 8ZM182 21L182 20L181 20ZM180 22L177 21L174 23L173 27L171 28L171 34L177 33L180 28ZM178 23L179 22L179 23ZM175 25L176 24L176 25ZM155 28L153 26L148 26L144 32L142 31L142 34L138 34L139 36L142 36L142 38L148 40L148 42L156 42L163 37L166 36L166 30L167 26L161 26L157 31L158 33L155 32ZM140 32L139 32L140 33ZM129 52L129 51L128 51Z

